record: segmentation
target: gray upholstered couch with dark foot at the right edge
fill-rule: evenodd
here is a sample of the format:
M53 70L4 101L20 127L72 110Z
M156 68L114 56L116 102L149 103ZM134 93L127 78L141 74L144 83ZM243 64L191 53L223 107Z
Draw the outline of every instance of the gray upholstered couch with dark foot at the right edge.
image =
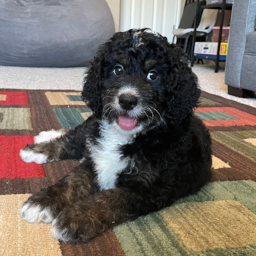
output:
M255 0L235 0L233 4L225 83L228 94L244 97L256 91Z

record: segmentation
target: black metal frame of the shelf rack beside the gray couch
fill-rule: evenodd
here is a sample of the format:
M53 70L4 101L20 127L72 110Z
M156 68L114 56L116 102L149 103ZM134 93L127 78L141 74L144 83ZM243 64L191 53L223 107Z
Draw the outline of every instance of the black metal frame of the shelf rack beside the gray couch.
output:
M222 10L222 18L219 26L219 41L218 41L218 51L217 51L217 58L216 59L211 59L211 61L215 61L215 72L217 73L219 71L219 62L223 60L219 60L219 50L220 50L220 45L222 43L222 28L223 28L223 23L224 23L224 18L225 18L225 10L232 10L233 4L226 4L226 0L222 0L222 3L220 4L206 4L206 5L200 5L199 0L197 0L197 12L200 12L200 9L219 9ZM195 19L197 19L197 15L195 16ZM195 20L195 24L197 23L197 20ZM193 41L192 41L192 50L191 50L191 67L193 67L194 62L195 62L195 55L194 55L194 50L195 50L195 39L196 39L196 27L194 29L194 34L193 34ZM201 59L201 57L200 57ZM203 58L206 59L206 58Z

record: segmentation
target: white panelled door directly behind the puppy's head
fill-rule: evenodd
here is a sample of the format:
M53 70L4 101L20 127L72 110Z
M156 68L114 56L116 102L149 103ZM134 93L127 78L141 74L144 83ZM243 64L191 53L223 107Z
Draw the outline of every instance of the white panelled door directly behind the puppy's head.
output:
M120 31L149 28L173 39L178 28L182 0L121 0Z

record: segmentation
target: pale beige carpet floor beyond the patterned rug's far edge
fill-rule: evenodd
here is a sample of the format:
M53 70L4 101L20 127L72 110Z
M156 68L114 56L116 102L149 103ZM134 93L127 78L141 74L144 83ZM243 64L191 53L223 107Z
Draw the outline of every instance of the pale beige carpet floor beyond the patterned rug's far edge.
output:
M241 99L227 94L224 83L225 70L214 73L214 62L197 65L193 71L199 78L200 87L210 94L219 95L256 108L255 99ZM31 68L0 66L0 89L82 89L85 68Z

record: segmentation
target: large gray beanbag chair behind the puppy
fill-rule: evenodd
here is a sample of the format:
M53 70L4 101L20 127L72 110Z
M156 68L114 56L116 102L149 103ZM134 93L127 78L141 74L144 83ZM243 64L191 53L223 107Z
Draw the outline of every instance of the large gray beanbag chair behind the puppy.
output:
M3 66L85 66L113 33L105 0L0 0Z

